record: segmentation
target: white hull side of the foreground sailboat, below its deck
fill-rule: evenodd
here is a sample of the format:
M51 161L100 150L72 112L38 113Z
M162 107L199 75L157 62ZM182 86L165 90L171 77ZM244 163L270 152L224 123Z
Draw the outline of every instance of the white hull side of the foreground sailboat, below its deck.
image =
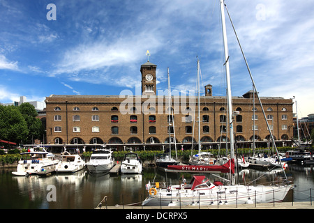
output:
M227 188L227 189L226 189ZM200 190L186 192L177 190L157 192L149 195L142 203L143 206L191 206L195 203L201 206L217 204L244 204L244 203L269 203L283 201L291 186L257 186L248 187L234 185L230 187L216 188L215 190ZM221 190L220 190L221 189Z

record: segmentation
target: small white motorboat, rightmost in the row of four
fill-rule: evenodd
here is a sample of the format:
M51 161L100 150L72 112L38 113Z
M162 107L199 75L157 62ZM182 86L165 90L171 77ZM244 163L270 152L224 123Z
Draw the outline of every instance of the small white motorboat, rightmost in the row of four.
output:
M121 174L140 174L142 173L142 162L137 153L126 153L124 161L121 162Z

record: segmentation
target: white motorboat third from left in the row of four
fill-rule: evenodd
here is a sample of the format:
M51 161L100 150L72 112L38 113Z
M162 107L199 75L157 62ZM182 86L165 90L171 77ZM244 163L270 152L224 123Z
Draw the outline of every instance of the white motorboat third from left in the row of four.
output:
M110 171L114 167L114 164L114 157L111 150L97 149L91 154L91 159L86 165L91 174L100 174Z

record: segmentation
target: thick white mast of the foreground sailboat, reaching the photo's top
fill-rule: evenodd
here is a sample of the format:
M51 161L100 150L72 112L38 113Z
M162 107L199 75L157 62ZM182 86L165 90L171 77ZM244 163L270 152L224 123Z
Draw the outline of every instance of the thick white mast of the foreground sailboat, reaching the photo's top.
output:
M224 0L220 0L221 22L223 25L223 45L225 48L225 72L227 80L227 102L228 102L228 123L230 125L230 158L234 158L234 132L232 126L232 103L231 103L231 84L230 84L230 69L229 69L229 51L227 45L227 31L225 29L225 9Z

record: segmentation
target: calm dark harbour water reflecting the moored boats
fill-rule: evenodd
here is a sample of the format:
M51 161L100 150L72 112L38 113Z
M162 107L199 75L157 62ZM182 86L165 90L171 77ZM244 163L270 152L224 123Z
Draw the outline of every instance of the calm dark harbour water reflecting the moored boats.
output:
M183 174L165 174L163 169L147 168L140 175L91 176L87 169L75 174L54 174L47 178L38 176L21 177L13 176L11 171L15 169L0 169L0 208L35 208L35 209L59 209L59 208L96 208L98 203L107 196L107 205L137 204L147 196L145 184L160 181L168 184L178 183ZM314 189L313 167L301 164L290 164L285 171L288 177L293 178L293 184L297 185L290 190L285 201L310 201L310 188ZM276 180L283 173L269 173L248 169L241 171L239 179L246 183L251 179L260 178L257 183L265 183ZM187 181L191 174L184 173ZM214 176L210 176L214 180ZM50 185L54 185L56 201L48 201L51 198ZM50 193L50 194L49 194ZM314 194L313 194L314 196Z

